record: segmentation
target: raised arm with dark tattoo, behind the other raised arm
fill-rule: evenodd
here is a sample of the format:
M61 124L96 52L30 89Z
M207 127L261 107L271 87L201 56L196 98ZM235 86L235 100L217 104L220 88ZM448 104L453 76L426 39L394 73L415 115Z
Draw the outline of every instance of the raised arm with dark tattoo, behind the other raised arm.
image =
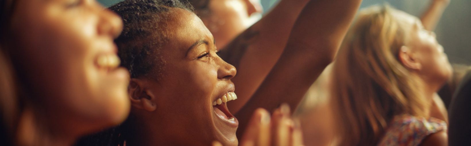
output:
M231 79L237 100L228 105L236 113L252 96L283 52L291 28L309 0L281 0L266 16L221 50L220 56L237 68Z

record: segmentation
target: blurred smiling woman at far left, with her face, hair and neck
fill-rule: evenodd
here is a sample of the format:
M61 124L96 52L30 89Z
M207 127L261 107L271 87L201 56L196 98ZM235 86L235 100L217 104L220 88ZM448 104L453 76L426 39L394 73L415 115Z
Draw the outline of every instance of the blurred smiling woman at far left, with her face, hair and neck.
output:
M122 122L122 21L95 0L0 0L2 146L67 146Z

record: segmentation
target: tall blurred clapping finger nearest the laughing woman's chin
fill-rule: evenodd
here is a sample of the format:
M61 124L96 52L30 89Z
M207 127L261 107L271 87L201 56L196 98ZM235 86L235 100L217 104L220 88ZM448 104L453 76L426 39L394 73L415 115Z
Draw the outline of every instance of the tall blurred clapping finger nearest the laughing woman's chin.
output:
M269 135L269 131L267 131L267 129L269 130L269 123L270 115L267 110L262 108L255 110L242 136L240 146L254 146L259 142L263 144L264 141L268 141L267 138L269 137L264 137L264 135Z

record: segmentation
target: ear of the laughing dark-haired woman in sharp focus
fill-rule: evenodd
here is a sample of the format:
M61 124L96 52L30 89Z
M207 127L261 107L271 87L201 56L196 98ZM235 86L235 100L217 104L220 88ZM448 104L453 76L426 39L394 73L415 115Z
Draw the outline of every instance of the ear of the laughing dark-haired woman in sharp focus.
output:
M131 105L138 109L143 109L149 112L154 111L157 106L154 103L155 96L146 87L146 82L140 79L131 79L128 87L129 98Z

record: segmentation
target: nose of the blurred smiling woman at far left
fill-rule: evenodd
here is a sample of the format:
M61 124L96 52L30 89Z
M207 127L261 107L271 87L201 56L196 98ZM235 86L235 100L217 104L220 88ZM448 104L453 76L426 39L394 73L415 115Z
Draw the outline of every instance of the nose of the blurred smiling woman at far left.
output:
M113 38L118 37L123 27L121 17L99 4L97 5L101 11L99 12L98 34L110 35Z

